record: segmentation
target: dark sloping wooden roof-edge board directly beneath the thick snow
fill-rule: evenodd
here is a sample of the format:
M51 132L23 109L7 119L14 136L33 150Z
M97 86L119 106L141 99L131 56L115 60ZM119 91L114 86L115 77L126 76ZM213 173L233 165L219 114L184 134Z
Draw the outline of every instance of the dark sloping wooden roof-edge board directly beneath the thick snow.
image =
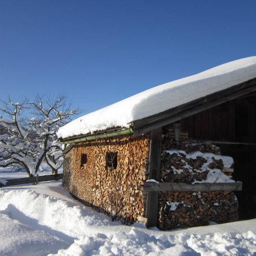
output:
M133 122L134 135L138 136L143 132L148 132L152 129L163 127L183 118L195 115L196 113L202 112L205 109L213 108L222 103L228 102L229 100L250 94L254 91L256 91L256 79L232 86L231 88L222 90L221 92L213 93L207 97L193 100L189 103L168 109L167 111L163 111L156 115L145 117L140 120L135 120Z

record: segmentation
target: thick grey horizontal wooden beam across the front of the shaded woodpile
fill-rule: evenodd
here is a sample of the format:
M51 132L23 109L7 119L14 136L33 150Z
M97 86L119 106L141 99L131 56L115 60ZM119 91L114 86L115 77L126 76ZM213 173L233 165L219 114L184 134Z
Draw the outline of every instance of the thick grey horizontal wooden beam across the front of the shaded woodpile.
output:
M196 183L186 184L182 182L146 182L144 191L240 191L242 190L243 182L230 183Z

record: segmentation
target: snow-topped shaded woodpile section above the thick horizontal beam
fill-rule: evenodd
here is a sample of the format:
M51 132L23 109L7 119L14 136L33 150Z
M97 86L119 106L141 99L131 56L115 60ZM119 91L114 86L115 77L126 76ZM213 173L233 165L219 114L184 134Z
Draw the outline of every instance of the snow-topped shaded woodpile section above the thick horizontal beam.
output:
M222 156L221 149L207 141L180 141L165 135L162 142L161 179L163 182L235 182L231 172L234 159ZM231 172L230 172L231 171Z

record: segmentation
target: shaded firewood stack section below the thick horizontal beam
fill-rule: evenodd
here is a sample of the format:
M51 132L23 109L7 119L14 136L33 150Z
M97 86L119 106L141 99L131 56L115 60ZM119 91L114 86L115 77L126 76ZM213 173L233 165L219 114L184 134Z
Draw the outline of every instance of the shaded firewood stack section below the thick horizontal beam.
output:
M176 208L170 207L170 202ZM209 221L224 223L238 217L237 200L231 191L160 192L158 210L162 230L203 226Z

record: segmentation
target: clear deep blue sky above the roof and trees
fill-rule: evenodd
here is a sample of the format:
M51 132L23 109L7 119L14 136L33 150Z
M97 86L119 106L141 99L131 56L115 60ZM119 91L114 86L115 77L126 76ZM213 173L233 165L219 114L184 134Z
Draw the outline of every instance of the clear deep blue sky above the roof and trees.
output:
M256 1L0 0L1 99L94 111L256 55Z

